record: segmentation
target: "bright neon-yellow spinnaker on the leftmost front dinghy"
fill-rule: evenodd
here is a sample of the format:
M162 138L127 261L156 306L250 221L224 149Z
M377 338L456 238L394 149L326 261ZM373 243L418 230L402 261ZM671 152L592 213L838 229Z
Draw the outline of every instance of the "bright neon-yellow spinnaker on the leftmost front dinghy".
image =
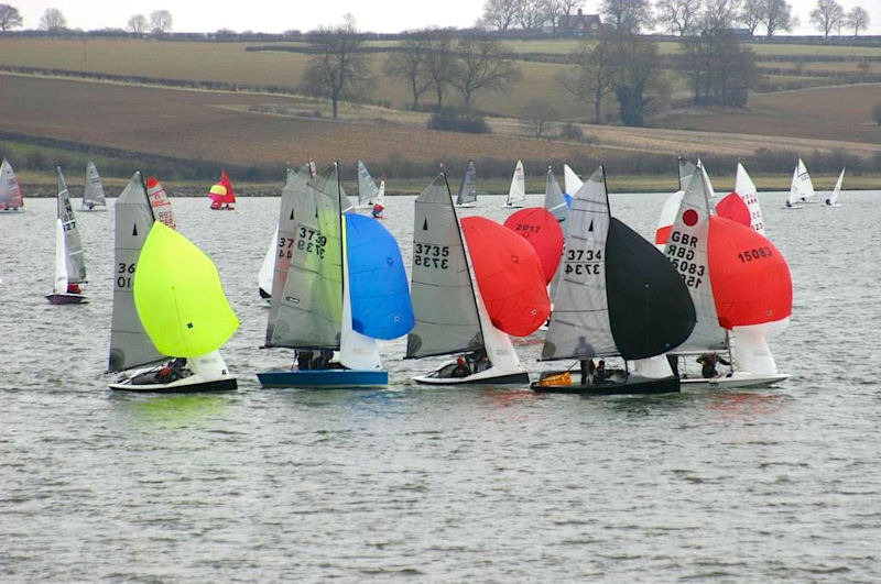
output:
M141 324L166 355L205 355L239 328L211 260L160 221L138 258L133 294Z

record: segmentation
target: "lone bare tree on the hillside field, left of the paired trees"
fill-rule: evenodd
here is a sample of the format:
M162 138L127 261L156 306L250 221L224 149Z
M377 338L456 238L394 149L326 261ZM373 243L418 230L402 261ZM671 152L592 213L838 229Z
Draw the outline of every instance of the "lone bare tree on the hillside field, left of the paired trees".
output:
M315 55L303 71L303 89L329 98L336 119L340 99L362 99L372 89L367 55L360 52L363 40L349 14L345 24L322 26L311 36Z

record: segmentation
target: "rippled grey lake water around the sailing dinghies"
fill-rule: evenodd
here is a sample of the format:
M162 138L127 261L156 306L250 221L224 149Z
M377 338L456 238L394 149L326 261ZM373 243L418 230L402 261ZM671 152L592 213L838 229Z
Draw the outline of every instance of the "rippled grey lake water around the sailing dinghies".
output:
M761 196L794 282L770 339L788 381L608 398L417 386L439 361L403 340L389 390L261 389L292 356L259 349L278 198L173 200L241 319L238 392L112 393L112 203L78 214L90 304L54 307L55 201L30 199L0 213L0 580L879 581L879 196ZM650 234L663 199L612 212ZM413 197L387 216L409 265ZM540 348L518 343L531 371Z

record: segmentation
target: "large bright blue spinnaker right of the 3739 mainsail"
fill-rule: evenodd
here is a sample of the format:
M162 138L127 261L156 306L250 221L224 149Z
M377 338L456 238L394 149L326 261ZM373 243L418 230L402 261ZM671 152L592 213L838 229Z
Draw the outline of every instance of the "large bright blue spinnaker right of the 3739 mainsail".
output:
M374 219L345 217L352 329L383 340L406 334L416 320L398 242Z

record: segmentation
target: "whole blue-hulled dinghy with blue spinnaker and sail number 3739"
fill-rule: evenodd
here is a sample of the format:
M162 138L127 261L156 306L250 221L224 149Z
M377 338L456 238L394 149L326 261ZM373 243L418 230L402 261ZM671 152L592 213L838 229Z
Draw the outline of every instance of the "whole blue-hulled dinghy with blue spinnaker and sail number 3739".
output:
M377 340L413 327L398 243L381 223L344 214L336 163L311 180L290 170L287 178L267 346L295 349L296 368L258 379L264 387L385 386Z

